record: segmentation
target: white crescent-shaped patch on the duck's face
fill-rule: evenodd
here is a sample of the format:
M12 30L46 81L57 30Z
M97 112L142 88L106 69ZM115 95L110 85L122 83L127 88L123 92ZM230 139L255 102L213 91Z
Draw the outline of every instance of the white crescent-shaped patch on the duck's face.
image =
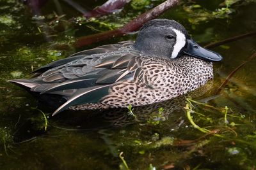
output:
M175 33L176 33L176 43L173 46L173 52L172 52L172 59L174 59L175 57L177 57L178 53L180 52L181 48L183 46L185 46L186 44L186 37L185 35L180 32L177 29L172 29Z

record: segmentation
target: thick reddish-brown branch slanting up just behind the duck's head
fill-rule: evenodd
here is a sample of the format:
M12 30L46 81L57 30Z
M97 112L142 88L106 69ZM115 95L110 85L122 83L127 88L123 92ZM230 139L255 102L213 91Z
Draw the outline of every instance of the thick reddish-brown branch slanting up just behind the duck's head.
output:
M156 17L159 17L164 11L172 8L173 6L177 5L180 2L180 0L167 0L164 1L164 3L159 4L152 10L149 10L134 20L131 20L128 24L125 24L120 29L116 29L113 31L106 31L106 32L100 32L98 34L93 34L90 36L84 36L79 39L77 39L77 42L75 43L76 47L86 46L90 45L92 43L96 43L99 41L102 41L104 39L113 38L114 36L123 36L129 32L138 31L140 27L145 24L145 22L148 22L149 20L152 20Z

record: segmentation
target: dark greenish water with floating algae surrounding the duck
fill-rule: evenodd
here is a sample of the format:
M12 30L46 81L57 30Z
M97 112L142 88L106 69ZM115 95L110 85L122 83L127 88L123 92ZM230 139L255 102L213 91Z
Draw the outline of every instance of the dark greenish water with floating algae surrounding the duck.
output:
M91 10L103 2L90 1L83 8ZM221 1L216 2L196 1L201 7L194 6L193 10L214 11L220 8ZM161 17L182 23L202 45L256 28L255 3L235 4L232 9L236 11L227 18L212 18L204 13L206 20L200 15L202 11L196 16L189 13L188 6L192 5L195 4L190 1L180 4ZM53 11L60 11L53 1L48 2L42 8L46 18L41 20L17 1L0 1L1 169L125 169L119 157L122 152L130 169L148 169L150 164L157 169L255 168L255 59L234 74L220 96L209 101L213 108L192 102L197 112L191 113L193 121L207 132L195 129L189 122L182 99L174 102L178 108L173 108L170 101L135 108L137 118L129 115L127 109L65 111L51 117L50 109L44 108L45 122L44 114L36 108L37 101L6 80L29 77L33 69L78 50L134 39L131 34L81 48L72 46L77 37L118 27L150 6L132 10L128 5L121 13L81 25L67 20L79 15L76 10L62 1L60 8L67 16L54 20ZM198 18L203 21L196 21ZM105 20L111 24L102 24ZM49 26L42 27L44 24ZM255 52L255 44L255 36L251 36L212 49L221 53L224 60L214 64L215 78L209 83L213 83L212 87L205 85L206 94L198 91L194 99L214 96L228 74ZM164 109L163 113L159 108ZM109 113L115 113L115 117L109 117Z

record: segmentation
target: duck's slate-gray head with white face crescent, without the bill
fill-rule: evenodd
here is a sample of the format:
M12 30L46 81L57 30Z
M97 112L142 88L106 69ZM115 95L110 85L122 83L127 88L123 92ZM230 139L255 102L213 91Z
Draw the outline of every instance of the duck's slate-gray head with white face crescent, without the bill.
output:
M134 48L149 55L174 59L188 38L188 32L179 22L155 19L141 27Z

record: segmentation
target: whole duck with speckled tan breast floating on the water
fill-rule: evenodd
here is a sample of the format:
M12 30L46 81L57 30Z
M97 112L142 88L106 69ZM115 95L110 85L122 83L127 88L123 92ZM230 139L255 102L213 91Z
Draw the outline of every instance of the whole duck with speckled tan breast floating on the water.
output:
M158 18L141 27L136 41L83 50L10 82L39 97L61 97L52 115L147 106L198 89L213 78L212 62L222 59L193 41L179 22Z

